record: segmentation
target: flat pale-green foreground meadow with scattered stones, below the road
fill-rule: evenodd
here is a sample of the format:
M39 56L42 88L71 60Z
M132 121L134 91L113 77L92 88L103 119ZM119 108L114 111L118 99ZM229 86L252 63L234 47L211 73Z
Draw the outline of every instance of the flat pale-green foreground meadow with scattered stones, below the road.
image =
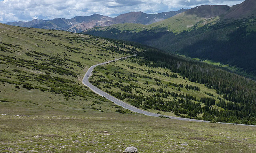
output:
M254 127L86 112L0 116L1 152L255 152ZM243 139L246 138L247 141Z

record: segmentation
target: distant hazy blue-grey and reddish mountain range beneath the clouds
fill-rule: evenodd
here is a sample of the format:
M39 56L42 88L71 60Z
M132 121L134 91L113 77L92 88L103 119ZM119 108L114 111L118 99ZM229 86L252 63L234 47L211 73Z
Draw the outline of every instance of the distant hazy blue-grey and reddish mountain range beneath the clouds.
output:
M155 22L162 21L164 19L170 18L176 14L182 13L188 9L181 9L178 11L162 12L158 14L146 14L143 12L130 12L126 14L121 14L115 18L108 16L103 16L99 14L93 14L91 16L76 16L71 19L65 18L55 18L53 20L37 20L34 19L29 22L8 22L6 24L11 26L20 27L35 27L41 29L56 29L79 33L86 29L96 27L96 26L110 26L113 24L152 24Z

